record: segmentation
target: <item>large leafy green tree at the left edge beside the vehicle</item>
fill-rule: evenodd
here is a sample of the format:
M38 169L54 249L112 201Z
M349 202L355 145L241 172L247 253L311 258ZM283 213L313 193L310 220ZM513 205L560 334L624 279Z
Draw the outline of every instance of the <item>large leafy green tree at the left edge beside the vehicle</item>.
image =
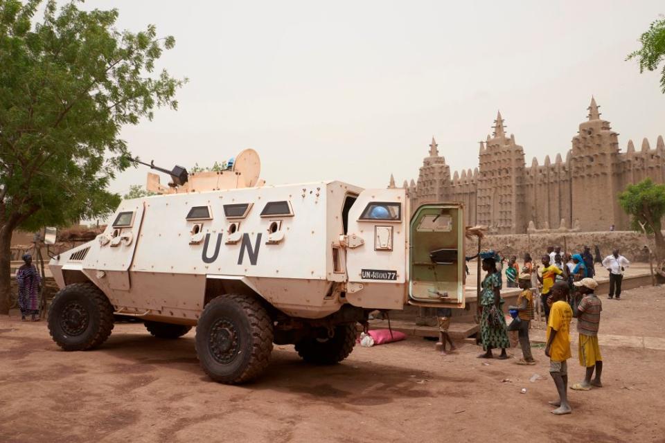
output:
M37 230L112 212L107 191L130 165L123 125L177 109L186 81L154 64L173 37L154 26L114 28L117 10L58 8L42 0L0 0L0 314L8 313L10 242L16 228Z

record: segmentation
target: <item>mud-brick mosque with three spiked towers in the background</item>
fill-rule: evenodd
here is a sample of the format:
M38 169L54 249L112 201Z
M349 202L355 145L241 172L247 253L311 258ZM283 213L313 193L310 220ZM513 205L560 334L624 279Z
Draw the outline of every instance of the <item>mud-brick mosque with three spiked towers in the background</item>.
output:
M488 226L493 234L526 233L536 229L575 228L580 231L630 228L617 195L630 183L650 177L665 182L665 143L655 149L644 138L641 149L628 141L619 151L617 132L601 119L596 100L589 105L587 121L580 123L566 158L546 156L527 166L524 149L513 134L506 134L501 114L494 131L480 142L479 165L474 170L450 172L434 138L423 160L418 180L404 181L411 208L440 201L461 201L467 224ZM396 187L393 176L389 188ZM563 225L563 226L562 226Z

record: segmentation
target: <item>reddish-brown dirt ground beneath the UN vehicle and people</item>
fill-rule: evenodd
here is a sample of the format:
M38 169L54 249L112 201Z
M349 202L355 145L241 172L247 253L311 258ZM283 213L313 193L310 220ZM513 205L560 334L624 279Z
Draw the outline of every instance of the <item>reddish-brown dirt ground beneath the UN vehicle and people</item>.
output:
M603 296L605 387L570 391L562 417L540 347L538 365L520 366L477 359L468 341L441 356L409 338L314 367L276 346L264 377L224 386L199 368L194 331L162 341L121 323L100 349L68 353L44 322L3 316L0 442L665 442L665 288L623 298Z

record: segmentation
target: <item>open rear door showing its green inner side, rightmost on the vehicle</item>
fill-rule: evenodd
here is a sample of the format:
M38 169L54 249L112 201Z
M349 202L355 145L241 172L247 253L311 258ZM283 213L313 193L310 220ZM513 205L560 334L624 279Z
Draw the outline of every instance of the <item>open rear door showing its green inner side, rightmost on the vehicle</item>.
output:
M411 218L411 305L464 307L463 215L461 204L425 204Z

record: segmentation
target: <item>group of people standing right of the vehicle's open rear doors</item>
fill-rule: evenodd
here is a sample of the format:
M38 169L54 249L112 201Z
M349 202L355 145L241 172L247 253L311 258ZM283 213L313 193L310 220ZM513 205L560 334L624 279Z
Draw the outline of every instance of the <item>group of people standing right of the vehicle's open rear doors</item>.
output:
M589 390L602 386L603 359L598 347L598 326L603 308L595 293L598 282L594 279L596 269L589 246L584 246L581 253L575 254L562 253L560 247L551 246L541 257L542 266L534 265L531 256L526 254L521 269L516 257L511 257L505 270L507 286L517 286L522 291L517 297L517 304L508 307L514 318L510 325L506 322L501 296L504 258L493 251L480 253L479 257L482 269L486 271L478 302L480 341L485 352L479 357L492 359L493 350L501 350L497 358L507 359L506 349L510 347L508 331L516 330L522 348L522 359L517 364L535 365L529 329L531 320L535 319L536 302L540 301L547 321L545 355L550 359L549 371L559 394L558 400L550 402L556 406L552 413L569 414L566 362L571 358L569 331L573 317L578 319L578 357L586 372L583 381L574 383L571 389ZM630 262L614 250L612 255L602 260L602 264L610 272L609 298L620 300L621 278Z

